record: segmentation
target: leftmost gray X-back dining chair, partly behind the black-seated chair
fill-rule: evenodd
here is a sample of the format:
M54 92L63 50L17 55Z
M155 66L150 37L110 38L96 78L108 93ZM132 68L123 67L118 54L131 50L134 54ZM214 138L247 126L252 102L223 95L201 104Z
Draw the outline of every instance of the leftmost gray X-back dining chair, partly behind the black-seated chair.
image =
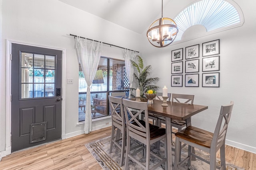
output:
M110 112L112 117L112 131L111 131L111 141L110 141L110 153L112 153L113 145L116 145L121 150L120 166L124 164L124 149L126 143L126 124L124 118L124 107L122 98L108 96ZM116 131L116 139L114 139L114 134ZM120 138L120 132L122 133L122 138ZM119 144L120 140L121 146Z

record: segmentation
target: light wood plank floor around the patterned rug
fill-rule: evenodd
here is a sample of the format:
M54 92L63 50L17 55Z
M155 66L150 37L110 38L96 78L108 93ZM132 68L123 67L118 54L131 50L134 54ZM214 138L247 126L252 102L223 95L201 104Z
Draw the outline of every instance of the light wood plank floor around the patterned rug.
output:
M15 152L2 158L0 170L99 170L100 165L84 144L109 135L111 127ZM251 152L226 146L226 161L256 170L256 154Z

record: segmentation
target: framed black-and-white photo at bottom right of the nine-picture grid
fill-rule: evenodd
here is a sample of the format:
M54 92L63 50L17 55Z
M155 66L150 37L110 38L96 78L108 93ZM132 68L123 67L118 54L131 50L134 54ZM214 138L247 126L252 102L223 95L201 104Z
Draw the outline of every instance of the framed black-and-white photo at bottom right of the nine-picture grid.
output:
M202 74L202 87L220 87L220 73L203 73Z

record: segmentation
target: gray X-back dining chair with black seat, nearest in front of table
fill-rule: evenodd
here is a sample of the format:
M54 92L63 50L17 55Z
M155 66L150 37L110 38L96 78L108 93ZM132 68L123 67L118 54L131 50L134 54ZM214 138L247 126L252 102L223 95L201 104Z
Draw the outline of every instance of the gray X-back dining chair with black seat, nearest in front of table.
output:
M160 128L158 126L152 125L148 122L148 104L146 102L136 102L132 100L123 99L124 105L124 115L126 117L126 126L127 126L127 145L126 145L126 158L124 169L128 170L128 163L131 159L133 162L136 162L142 168L146 170L155 170L156 167L165 163L167 167L167 151L166 151L166 129ZM145 121L138 119L138 115L141 113L145 114ZM128 113L131 118L128 119ZM136 154L130 151L131 139L136 139L137 141L143 143L146 147L146 164L142 164ZM160 158L153 152L150 152L150 145L164 139L164 151L165 158ZM135 152L136 153L136 152ZM156 157L160 161L150 168L150 155Z

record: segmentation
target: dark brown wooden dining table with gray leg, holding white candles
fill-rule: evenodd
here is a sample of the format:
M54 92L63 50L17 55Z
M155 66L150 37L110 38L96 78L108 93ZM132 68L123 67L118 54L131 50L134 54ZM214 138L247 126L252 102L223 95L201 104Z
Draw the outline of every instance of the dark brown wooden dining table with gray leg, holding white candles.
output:
M136 100L132 98L130 100ZM141 102L147 102L146 98L140 98ZM186 125L191 125L191 116L208 109L208 106L196 104L184 104L168 102L168 106L162 106L162 100L153 100L154 104L148 104L148 112L161 115L166 118L166 139L167 139L167 170L172 170L172 130L171 119L184 120Z

